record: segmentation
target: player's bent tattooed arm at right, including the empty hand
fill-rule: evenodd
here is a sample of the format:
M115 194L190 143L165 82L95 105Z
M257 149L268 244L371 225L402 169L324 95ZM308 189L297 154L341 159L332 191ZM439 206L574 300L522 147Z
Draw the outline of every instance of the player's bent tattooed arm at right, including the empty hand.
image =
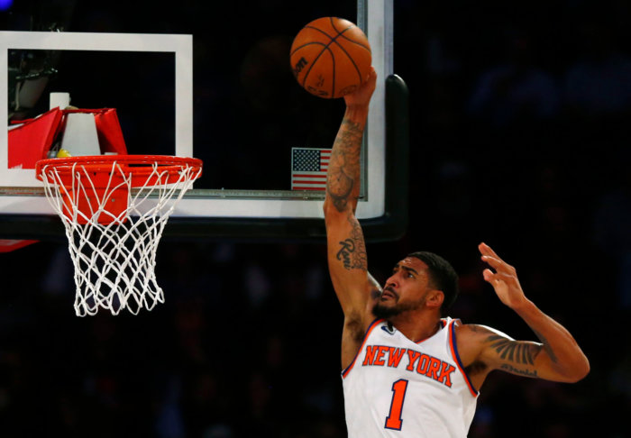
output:
M590 362L572 334L526 298L514 267L501 260L485 243L480 243L479 250L481 259L492 268L484 269L484 279L495 289L500 301L521 316L540 341L515 341L504 333L480 327L480 361L489 370L554 381L576 382L587 376Z

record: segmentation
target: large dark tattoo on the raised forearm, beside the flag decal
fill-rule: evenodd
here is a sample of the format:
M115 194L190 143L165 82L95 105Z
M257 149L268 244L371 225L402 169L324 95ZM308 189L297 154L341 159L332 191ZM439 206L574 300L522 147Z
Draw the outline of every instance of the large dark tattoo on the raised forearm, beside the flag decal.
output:
M362 134L361 123L344 119L335 137L326 174L326 192L338 211L343 211L350 201L353 188L359 184Z

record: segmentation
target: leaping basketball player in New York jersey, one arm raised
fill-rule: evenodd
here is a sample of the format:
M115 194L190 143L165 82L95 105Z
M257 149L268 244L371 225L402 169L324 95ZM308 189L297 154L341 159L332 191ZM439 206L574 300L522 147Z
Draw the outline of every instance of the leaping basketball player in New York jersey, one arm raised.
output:
M516 341L484 325L444 316L457 275L443 258L415 252L395 263L383 289L367 270L355 217L360 146L376 73L345 96L329 164L325 223L329 271L342 306L342 377L350 438L465 437L478 390L492 370L576 382L590 370L561 324L524 295L516 270L480 243L482 276L540 342Z

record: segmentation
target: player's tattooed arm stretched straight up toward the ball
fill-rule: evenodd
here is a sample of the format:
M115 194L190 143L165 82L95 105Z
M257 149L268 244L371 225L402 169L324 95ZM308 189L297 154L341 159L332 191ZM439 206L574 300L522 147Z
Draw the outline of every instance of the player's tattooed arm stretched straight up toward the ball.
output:
M364 322L370 290L366 246L355 208L360 193L361 138L376 78L371 68L367 81L351 95L344 96L346 111L326 176L324 209L329 271L344 316L347 322L352 319L355 323L360 323L357 318Z

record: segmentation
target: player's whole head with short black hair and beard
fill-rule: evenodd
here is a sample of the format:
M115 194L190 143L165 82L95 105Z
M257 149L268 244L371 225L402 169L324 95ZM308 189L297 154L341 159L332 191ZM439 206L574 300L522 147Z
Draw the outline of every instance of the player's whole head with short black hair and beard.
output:
M458 276L449 262L432 252L413 252L395 265L373 314L389 319L407 311L434 309L444 315L457 295Z

